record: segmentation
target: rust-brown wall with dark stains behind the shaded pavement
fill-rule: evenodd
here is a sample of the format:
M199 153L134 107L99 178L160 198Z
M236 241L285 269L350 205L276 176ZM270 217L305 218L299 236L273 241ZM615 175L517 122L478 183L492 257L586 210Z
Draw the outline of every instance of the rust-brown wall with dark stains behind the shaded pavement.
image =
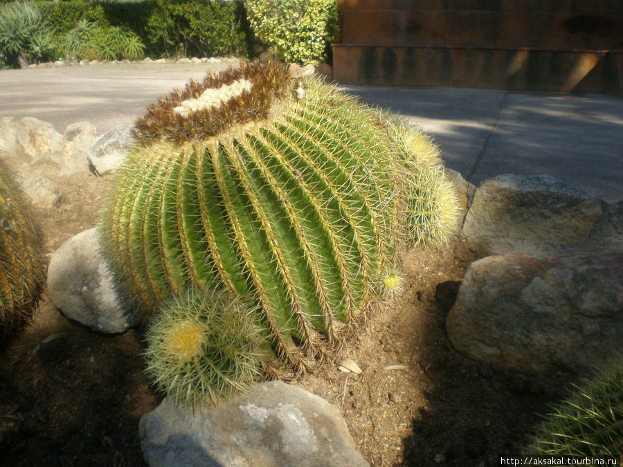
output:
M334 78L620 93L621 0L341 0Z

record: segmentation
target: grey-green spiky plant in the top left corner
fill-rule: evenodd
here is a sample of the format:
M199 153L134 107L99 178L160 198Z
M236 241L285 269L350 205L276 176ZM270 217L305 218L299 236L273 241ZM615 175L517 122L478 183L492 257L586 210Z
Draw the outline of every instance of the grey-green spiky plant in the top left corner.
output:
M32 60L55 54L53 31L35 3L8 3L0 8L0 62L24 68Z

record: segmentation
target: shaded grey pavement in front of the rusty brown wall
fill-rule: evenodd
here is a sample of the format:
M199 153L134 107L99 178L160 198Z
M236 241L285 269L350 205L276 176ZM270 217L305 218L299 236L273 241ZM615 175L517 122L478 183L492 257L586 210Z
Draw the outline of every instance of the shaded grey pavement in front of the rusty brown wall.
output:
M345 86L432 134L448 167L478 185L545 174L623 199L623 98L483 89Z

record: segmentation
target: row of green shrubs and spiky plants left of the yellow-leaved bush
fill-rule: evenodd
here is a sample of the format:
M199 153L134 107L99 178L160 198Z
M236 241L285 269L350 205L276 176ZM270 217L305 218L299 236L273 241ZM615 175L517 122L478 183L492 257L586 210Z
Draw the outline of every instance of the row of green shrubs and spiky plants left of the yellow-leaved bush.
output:
M82 59L249 56L242 3L37 1L0 8L0 68L71 55Z

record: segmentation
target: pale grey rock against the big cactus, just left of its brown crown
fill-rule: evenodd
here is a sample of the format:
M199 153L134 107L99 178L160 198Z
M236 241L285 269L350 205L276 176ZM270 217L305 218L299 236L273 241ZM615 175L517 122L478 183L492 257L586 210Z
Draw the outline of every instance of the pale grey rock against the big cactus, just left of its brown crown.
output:
M134 145L132 125L119 125L100 136L87 152L89 170L102 176L116 170Z

